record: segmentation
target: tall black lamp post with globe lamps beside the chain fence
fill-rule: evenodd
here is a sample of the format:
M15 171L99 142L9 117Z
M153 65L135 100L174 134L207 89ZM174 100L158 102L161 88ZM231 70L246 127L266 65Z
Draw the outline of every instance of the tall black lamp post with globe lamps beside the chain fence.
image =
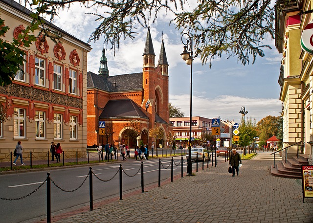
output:
M190 65L190 119L189 119L189 154L187 159L187 173L192 175L192 162L191 162L191 126L192 126L192 62L193 58L198 56L198 53L193 56L193 43L192 35L183 33L181 35L181 43L184 45L184 51L180 54L182 59L186 61L187 65Z

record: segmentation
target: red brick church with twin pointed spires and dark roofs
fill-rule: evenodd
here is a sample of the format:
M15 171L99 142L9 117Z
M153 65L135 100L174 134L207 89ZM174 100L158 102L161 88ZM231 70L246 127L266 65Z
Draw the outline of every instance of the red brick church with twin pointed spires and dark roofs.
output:
M105 49L102 51L98 74L87 73L87 145L104 144L115 146L128 144L130 148L143 142L151 148L166 147L166 135L172 130L168 107L168 62L162 40L158 64L155 57L150 28L143 49L143 68L140 73L109 75ZM148 108L147 108L148 107ZM103 135L99 122L105 122ZM141 135L136 139L127 135L130 122L139 123ZM163 139L147 137L148 129L161 129ZM149 141L148 141L149 140ZM156 148L155 147L155 148Z

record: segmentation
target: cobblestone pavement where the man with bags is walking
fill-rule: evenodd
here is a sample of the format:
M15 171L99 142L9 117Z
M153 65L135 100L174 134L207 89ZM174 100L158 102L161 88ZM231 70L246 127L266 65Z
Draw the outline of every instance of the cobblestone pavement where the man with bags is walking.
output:
M313 199L303 203L301 179L270 174L269 153L243 160L239 176L228 164L206 167L195 176L118 198L52 213L53 223L313 223ZM147 188L145 188L147 189ZM126 197L126 198L125 198ZM42 221L38 221L42 219ZM45 216L37 222L46 222ZM34 222L34 221L32 221Z

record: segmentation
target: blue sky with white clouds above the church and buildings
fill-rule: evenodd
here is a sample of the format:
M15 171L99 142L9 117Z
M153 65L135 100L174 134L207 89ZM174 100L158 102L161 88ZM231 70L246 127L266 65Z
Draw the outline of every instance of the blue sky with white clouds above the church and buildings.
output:
M70 10L61 11L54 23L82 41L87 42L90 34L99 24L95 17L86 12L94 12L72 5ZM162 38L169 63L169 102L179 108L186 117L190 115L190 66L181 59L183 51L181 31L169 25L171 15L160 14L155 23L150 23L151 37L156 54L156 65L159 58ZM142 72L143 51L147 28L138 27L134 40L121 40L119 50L106 49L110 76ZM162 35L162 32L164 35ZM88 54L88 71L98 73L104 39L90 42L92 50ZM220 118L241 122L239 113L245 107L246 119L260 121L272 115L279 116L282 102L279 100L278 84L282 55L274 46L274 40L265 40L264 44L272 49L265 49L265 57L257 57L252 65L243 66L236 57L222 57L203 65L200 57L193 62L192 116Z

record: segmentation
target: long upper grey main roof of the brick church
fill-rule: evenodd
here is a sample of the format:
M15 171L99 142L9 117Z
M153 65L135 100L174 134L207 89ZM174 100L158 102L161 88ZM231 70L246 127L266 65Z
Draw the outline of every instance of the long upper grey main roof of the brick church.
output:
M142 90L142 73L129 73L103 77L87 72L87 89L101 89L109 92Z

